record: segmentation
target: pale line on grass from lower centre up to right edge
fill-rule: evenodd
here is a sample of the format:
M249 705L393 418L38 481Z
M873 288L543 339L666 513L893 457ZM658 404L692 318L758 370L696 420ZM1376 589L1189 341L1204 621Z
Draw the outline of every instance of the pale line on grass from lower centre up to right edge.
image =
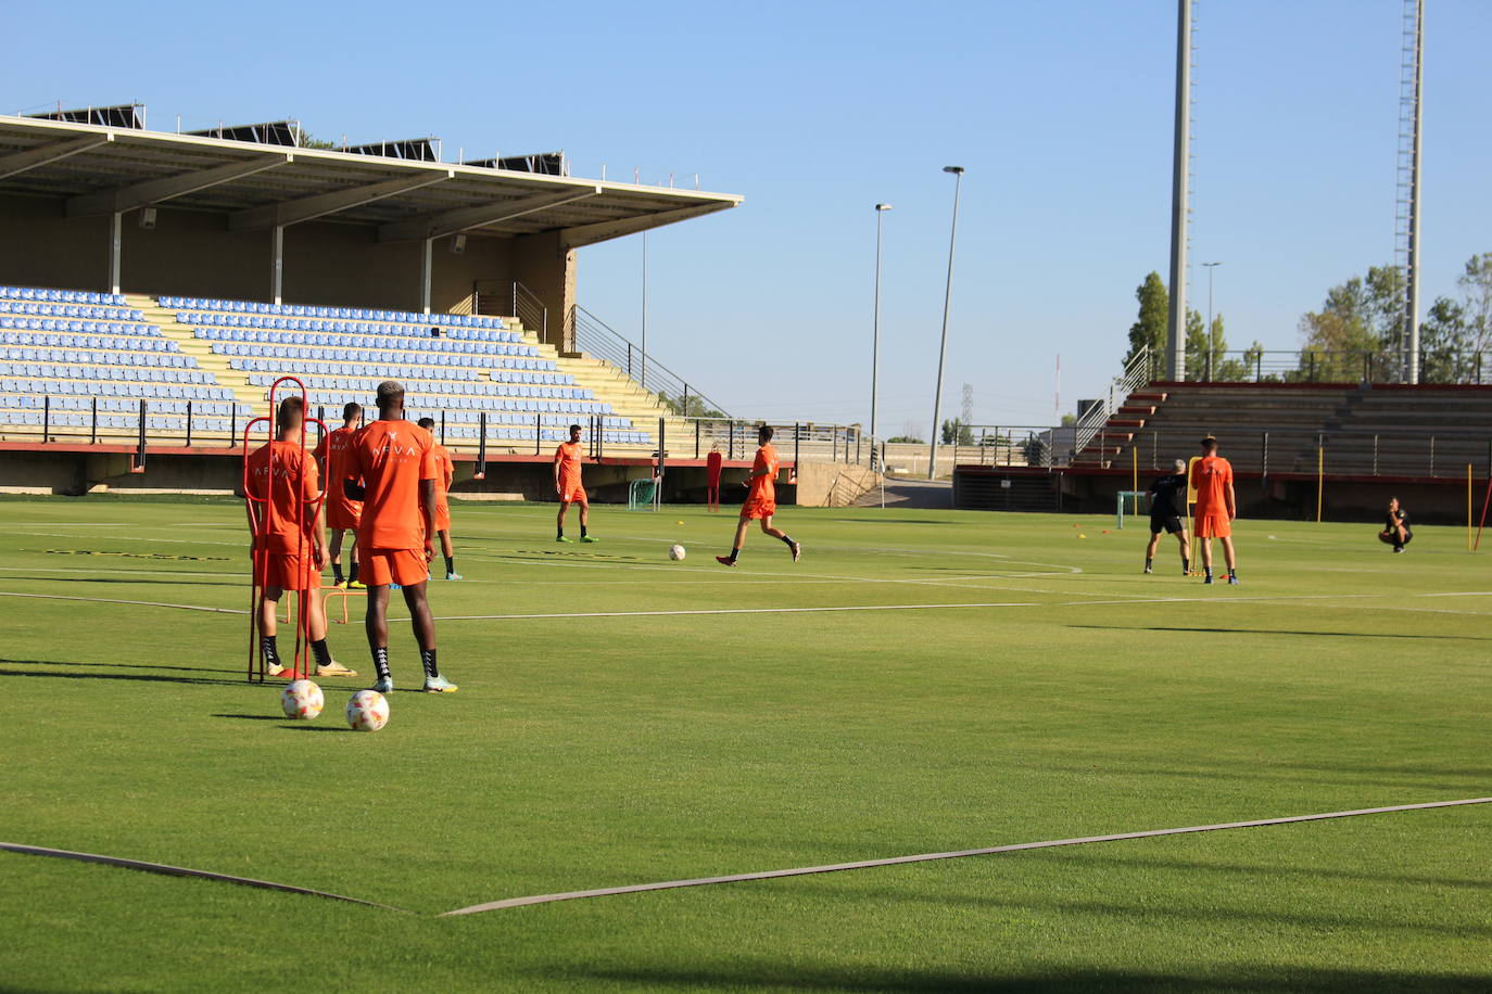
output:
M1000 852L1021 852L1025 849L1053 849L1064 845L1088 845L1089 842L1122 842L1126 839L1153 839L1165 835L1191 835L1197 832L1223 832L1228 829L1258 829L1262 826L1294 824L1298 821L1325 821L1328 818L1352 818L1356 815L1382 815L1394 811L1423 811L1426 808L1455 808L1458 805L1486 805L1492 797L1468 797L1465 800L1434 800L1422 805L1394 805L1392 808L1359 808L1356 811L1328 811L1316 815L1292 815L1289 818L1262 818L1258 821L1226 821L1212 826L1191 826L1186 829L1150 829L1149 832L1120 832L1116 835L1091 835L1079 839L1052 839L1047 842L1018 842L1015 845L995 845L985 849L959 849L956 852L924 852L919 855L894 855L885 860L861 860L858 863L830 863L825 866L800 866L789 870L764 870L758 873L731 873L728 876L700 876L685 881L662 881L659 884L630 884L627 887L601 887L586 891L564 891L561 894L534 894L530 897L509 897L485 905L471 905L443 912L442 918L454 915L476 915L483 911L500 911L503 908L522 908L525 905L548 905L560 900L579 900L582 897L612 897L615 894L637 894L642 891L676 890L680 887L704 887L709 884L742 884L746 881L768 881L783 876L807 876L810 873L839 873L841 870L865 870L877 866L901 866L906 863L931 863L934 860L959 860L970 855L995 855Z

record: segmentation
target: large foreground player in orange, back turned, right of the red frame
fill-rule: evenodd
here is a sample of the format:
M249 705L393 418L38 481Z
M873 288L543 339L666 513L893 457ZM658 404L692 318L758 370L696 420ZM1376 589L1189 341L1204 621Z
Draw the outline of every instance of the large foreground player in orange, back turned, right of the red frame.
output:
M404 386L398 380L379 383L377 420L352 440L342 484L349 498L363 501L358 557L369 587L366 626L377 668L373 690L379 693L394 688L388 671L388 587L394 583L403 587L409 605L425 690L457 690L436 665L436 621L425 598L430 560L436 557L434 447L430 432L404 420Z

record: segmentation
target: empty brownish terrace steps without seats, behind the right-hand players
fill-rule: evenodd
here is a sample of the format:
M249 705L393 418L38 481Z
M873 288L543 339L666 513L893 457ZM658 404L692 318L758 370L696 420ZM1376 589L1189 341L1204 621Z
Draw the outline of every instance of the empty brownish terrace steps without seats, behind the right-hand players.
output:
M1128 398L1074 468L1143 471L1189 458L1213 434L1241 472L1464 477L1492 443L1492 389L1156 383Z

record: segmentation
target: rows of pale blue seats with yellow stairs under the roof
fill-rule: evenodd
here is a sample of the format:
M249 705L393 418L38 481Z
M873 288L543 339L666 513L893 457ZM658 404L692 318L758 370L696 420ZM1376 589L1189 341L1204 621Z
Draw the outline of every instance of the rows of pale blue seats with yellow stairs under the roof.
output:
M152 441L181 441L189 420L194 440L227 444L280 376L328 422L348 401L372 410L394 377L409 416L442 422L452 447L474 449L485 414L488 444L515 452L562 440L571 422L601 426L613 450L651 452L665 411L594 365L503 317L0 286L0 437L15 440L40 440L43 425L54 440L122 438L143 413Z

